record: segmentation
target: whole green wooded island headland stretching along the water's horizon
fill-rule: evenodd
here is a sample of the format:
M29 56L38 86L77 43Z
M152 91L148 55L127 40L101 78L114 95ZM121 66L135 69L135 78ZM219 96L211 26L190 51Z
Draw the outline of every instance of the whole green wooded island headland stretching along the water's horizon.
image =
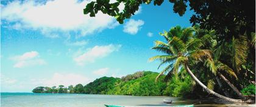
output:
M152 71L138 71L134 74L120 78L101 77L83 86L77 84L65 87L38 86L32 92L35 93L78 93L78 94L112 94L132 96L185 96L192 91L190 76L182 80L173 78L174 81L164 82L164 77L155 82L158 73Z

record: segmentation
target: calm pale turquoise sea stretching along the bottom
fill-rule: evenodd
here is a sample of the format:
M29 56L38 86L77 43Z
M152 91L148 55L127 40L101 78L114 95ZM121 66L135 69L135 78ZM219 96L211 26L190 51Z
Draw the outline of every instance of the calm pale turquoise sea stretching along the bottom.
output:
M182 100L175 97L138 97L92 94L35 94L1 92L1 107L103 107L107 105L129 106L171 106L163 99L172 99L172 105L196 106L249 106L236 104L216 104L200 100ZM255 106L255 105L251 105Z

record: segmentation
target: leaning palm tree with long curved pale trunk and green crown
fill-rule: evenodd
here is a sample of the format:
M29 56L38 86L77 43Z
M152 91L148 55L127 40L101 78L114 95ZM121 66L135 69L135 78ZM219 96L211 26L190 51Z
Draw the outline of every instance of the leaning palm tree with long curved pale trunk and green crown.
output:
M222 96L221 94L212 91L212 89L207 88L207 86L205 86L199 79L197 79L196 76L194 76L189 68L190 62L208 60L206 65L209 67L215 63L213 62L210 50L200 49L203 46L202 41L201 39L193 37L193 33L193 28L181 28L180 26L171 28L171 30L168 32L164 31L164 33L160 33L160 35L165 37L167 43L155 41L155 47L152 49L161 51L165 53L165 55L154 56L149 60L160 60L161 63L158 68L167 63L168 66L166 66L166 68L160 72L157 78L162 74L167 73L165 76L165 80L167 80L172 76L172 74L177 74L180 66L183 66L190 76L196 81L196 83L202 86L202 88L204 88L209 94L213 94L216 97L230 102L243 102L243 100L230 99L229 97ZM211 69L215 69L215 67L212 67ZM216 74L216 72L214 74Z

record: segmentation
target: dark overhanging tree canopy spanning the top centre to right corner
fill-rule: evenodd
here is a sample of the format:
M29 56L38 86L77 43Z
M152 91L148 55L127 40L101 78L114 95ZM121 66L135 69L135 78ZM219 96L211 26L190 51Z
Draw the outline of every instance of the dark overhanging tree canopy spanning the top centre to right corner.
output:
M113 16L123 24L138 10L141 4L161 5L164 0L117 0L110 3L110 0L97 0L90 2L84 8L84 14L90 13L94 17L98 11ZM199 24L201 28L216 30L218 40L229 40L232 36L239 37L246 34L253 39L252 32L255 32L255 1L254 0L169 0L173 4L173 12L180 16L185 14L187 7L194 11L190 18L193 25ZM124 10L118 6L124 4ZM168 13L166 13L168 14ZM221 41L220 41L221 42Z

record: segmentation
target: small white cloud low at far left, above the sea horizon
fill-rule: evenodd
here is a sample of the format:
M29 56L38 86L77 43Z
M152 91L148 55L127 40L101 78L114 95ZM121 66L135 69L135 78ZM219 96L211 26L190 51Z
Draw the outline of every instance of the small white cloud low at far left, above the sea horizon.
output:
M24 68L26 66L44 65L46 62L40 59L37 51L30 51L19 56L13 56L10 59L15 61L14 68Z

